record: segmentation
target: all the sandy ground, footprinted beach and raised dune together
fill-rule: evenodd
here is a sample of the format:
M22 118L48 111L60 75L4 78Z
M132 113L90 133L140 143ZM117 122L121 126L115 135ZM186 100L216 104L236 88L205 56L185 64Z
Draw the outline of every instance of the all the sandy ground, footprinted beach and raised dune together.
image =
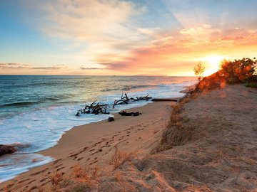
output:
M257 191L256 95L254 88L228 85L184 104L128 110L141 112L138 117L115 114L114 122L75 127L41 151L54 162L0 188L50 191L49 176L59 172L70 183L57 191ZM119 166L111 163L117 151L126 157ZM78 165L98 167L99 174L90 184L72 178Z

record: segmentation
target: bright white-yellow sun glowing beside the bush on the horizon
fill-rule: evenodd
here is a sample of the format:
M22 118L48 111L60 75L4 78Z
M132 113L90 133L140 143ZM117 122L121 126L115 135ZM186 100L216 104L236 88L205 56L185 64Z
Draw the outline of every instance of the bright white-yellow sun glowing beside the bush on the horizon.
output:
M201 61L203 61L203 64L206 65L206 71L204 72L203 75L208 76L213 73L216 73L216 71L218 71L221 60L223 59L224 57L221 55L210 55L210 56L201 58Z

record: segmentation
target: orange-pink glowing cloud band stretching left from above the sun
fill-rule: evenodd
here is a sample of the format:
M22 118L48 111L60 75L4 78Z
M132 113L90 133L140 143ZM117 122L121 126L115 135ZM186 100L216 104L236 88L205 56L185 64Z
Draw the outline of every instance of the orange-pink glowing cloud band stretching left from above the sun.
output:
M95 62L105 65L108 70L165 74L176 70L183 72L186 68L191 70L196 62L193 58L213 53L226 54L228 50L238 53L245 46L251 50L251 46L257 45L257 31L253 29L218 28L204 24L161 34L148 46L135 48L128 55L120 58L101 55Z

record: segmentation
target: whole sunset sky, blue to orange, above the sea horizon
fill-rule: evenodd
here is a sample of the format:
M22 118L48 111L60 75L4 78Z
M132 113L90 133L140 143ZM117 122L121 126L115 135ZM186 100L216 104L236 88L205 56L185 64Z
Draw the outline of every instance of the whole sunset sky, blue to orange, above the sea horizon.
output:
M0 1L1 75L205 75L257 52L256 0Z

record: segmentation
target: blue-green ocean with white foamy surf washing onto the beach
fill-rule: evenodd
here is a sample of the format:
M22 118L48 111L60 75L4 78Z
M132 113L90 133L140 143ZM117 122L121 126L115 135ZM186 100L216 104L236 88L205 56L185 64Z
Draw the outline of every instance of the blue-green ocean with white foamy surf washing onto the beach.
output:
M53 161L50 156L36 153L57 144L72 127L111 117L76 117L86 103L97 100L113 104L125 92L129 97L182 97L179 91L194 83L195 77L0 75L0 144L15 145L18 149L0 157L0 183ZM117 105L110 112L149 102Z

